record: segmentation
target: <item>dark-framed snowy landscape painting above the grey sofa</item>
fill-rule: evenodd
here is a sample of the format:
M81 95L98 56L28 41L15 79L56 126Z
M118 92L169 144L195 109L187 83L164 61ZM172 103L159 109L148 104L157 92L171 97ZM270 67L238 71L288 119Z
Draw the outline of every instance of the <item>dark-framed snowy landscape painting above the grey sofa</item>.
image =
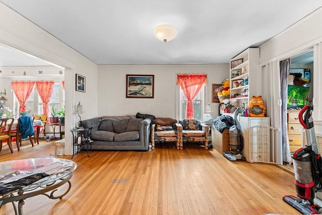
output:
M126 75L126 98L154 98L154 75Z

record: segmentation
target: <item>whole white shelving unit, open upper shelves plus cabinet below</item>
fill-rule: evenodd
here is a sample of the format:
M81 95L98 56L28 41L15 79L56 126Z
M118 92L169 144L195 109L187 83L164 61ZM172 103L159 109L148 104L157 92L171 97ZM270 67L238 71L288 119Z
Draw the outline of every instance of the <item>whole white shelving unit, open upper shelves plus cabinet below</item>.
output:
M230 103L249 106L253 96L258 94L261 82L259 78L259 48L248 48L230 60ZM237 61L239 61L237 63ZM249 113L249 112L248 112ZM234 118L234 114L228 114ZM240 132L244 138L243 156L250 163L271 162L271 133L269 117L237 116Z

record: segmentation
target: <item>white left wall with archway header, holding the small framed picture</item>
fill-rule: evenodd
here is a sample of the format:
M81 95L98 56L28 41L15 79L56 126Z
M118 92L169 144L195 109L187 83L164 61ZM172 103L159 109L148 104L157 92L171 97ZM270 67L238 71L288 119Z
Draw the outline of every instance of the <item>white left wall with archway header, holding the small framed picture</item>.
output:
M65 69L65 129L79 120L72 115L72 105L80 101L82 118L97 116L98 65L57 38L0 3L0 45L8 45L63 66ZM86 93L75 91L75 73L86 77ZM70 154L70 132L65 133L65 153Z

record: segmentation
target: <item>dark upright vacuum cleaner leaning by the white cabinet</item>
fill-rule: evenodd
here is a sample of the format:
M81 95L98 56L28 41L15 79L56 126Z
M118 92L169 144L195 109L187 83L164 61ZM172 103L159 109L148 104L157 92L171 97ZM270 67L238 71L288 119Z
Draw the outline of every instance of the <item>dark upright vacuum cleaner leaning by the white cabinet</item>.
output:
M229 152L223 152L222 155L230 161L242 160L246 158L241 155L244 147L244 139L240 134L240 124L237 120L237 115L243 110L243 107L237 107L234 114L234 125L229 128Z

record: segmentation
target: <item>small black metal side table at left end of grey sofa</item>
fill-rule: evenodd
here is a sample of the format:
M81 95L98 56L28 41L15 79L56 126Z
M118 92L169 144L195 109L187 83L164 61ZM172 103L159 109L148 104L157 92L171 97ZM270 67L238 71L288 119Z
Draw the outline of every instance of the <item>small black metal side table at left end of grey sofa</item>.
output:
M73 146L72 146L72 156L71 159L74 157L75 154L78 154L80 150L84 151L83 146L87 145L87 157L89 158L89 146L91 147L92 151L92 142L91 140L91 128L72 128L70 129L72 133L72 140L73 140Z

